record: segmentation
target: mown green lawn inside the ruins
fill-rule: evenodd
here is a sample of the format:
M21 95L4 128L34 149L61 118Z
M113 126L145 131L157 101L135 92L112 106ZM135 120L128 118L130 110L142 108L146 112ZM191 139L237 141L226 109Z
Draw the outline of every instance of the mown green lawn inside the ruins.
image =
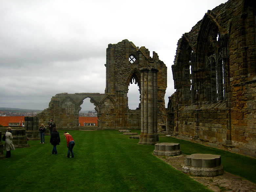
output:
M117 130L69 133L75 140L75 158L67 159L67 143L60 131L58 155L51 154L46 136L45 144L29 140L30 147L11 151L11 158L0 160L0 191L210 191L152 155L155 146L139 145L138 139L128 139ZM221 155L225 171L256 181L255 159L170 137L159 141L180 143L184 154Z

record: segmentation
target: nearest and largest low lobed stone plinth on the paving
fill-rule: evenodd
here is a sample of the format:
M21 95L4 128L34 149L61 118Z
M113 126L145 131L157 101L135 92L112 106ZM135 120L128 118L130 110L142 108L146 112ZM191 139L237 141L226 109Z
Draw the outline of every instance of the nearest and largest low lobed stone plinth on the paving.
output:
M196 176L214 177L224 173L221 156L212 154L192 154L185 159L184 173Z

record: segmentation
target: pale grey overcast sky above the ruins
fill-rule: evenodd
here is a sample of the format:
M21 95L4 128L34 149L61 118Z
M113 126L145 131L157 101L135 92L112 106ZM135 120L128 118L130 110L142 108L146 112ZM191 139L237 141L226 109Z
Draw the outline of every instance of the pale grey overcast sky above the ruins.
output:
M167 66L167 106L178 40L225 2L0 0L0 107L43 110L58 93L104 93L106 48L123 39ZM129 87L129 108L138 107L138 94ZM94 109L84 103L82 110Z

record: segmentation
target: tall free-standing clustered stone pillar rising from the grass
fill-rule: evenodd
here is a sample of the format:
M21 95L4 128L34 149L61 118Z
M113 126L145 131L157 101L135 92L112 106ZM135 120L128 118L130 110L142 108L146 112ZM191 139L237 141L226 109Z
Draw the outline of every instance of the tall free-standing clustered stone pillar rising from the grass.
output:
M141 72L141 133L139 144L158 143L157 133L157 69L142 69Z

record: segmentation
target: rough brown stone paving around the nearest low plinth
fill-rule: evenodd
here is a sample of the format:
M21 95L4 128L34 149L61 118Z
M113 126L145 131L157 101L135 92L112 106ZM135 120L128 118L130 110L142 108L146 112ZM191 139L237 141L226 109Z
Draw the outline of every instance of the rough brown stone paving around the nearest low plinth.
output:
M170 164L175 169L182 171L182 166L184 166L186 155L181 154L179 156L157 157ZM219 175L216 177L199 177L192 175L190 175L190 177L207 186L214 192L256 192L255 183L247 181L239 176L233 175L226 171L224 171L223 175Z

